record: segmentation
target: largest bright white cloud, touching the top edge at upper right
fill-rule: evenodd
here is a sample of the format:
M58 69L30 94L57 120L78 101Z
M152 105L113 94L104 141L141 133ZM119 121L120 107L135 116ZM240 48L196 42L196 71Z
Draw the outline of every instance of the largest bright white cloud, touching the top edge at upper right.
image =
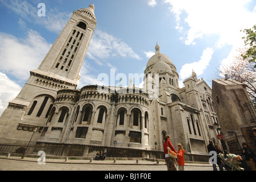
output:
M171 5L170 10L176 16L177 28L183 30L181 23L187 23L189 30L185 43L195 44L196 39L205 35L218 35L216 46L234 45L241 39L245 28L253 27L256 12L249 12L245 5L250 0L165 0ZM185 12L186 18L181 14ZM183 18L183 19L182 19Z

